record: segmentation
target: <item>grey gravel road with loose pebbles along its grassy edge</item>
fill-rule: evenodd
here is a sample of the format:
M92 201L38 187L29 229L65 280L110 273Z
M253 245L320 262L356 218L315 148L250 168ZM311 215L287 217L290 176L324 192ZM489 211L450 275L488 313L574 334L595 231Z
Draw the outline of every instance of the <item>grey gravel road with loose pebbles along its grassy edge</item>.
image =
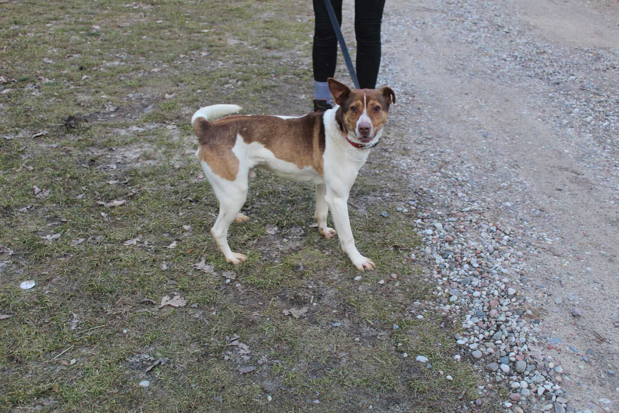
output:
M383 39L454 357L507 411L619 411L619 2L394 0Z

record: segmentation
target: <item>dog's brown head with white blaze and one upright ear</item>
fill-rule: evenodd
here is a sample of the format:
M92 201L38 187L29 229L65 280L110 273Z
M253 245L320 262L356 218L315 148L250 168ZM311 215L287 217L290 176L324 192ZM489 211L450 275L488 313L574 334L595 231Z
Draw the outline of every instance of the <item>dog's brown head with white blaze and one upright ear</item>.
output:
M329 78L329 91L340 107L335 119L361 143L368 143L381 133L387 121L389 106L396 103L391 87L355 89Z

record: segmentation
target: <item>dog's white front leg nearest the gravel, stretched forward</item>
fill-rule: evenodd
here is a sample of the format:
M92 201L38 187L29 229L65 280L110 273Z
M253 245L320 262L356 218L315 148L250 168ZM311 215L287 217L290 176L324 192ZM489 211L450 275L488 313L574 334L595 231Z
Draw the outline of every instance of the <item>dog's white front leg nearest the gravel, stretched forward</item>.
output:
M374 270L376 264L371 259L361 255L355 247L355 239L352 236L352 229L350 229L350 220L348 220L348 192L334 190L327 185L325 199L329 209L331 209L342 251L348 254L357 269L361 271Z

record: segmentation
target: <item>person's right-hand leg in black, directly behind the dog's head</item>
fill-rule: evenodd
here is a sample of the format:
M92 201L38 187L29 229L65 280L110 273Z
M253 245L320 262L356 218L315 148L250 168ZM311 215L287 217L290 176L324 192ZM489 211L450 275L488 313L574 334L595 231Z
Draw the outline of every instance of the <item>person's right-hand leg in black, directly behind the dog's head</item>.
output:
M357 78L361 89L374 89L381 66L381 22L385 0L355 0Z

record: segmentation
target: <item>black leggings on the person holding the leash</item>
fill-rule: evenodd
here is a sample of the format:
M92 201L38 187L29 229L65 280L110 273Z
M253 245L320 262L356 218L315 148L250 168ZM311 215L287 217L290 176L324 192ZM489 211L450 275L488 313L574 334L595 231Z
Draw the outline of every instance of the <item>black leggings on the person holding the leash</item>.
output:
M326 82L335 74L337 37L324 0L314 1L314 80ZM331 0L335 16L342 25L342 0ZM361 89L374 89L381 65L381 21L385 0L355 0L355 37L357 37L357 78Z

